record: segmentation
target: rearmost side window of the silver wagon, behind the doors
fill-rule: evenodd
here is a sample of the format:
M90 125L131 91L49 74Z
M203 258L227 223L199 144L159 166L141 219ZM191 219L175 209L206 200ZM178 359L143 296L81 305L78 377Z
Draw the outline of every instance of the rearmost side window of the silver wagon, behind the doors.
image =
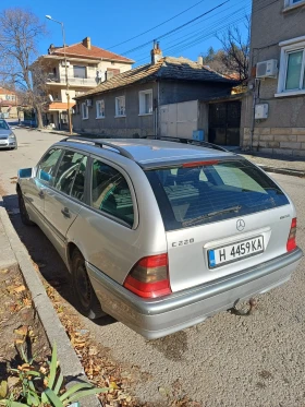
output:
M134 224L134 207L127 181L113 167L95 159L93 163L91 206L130 226Z

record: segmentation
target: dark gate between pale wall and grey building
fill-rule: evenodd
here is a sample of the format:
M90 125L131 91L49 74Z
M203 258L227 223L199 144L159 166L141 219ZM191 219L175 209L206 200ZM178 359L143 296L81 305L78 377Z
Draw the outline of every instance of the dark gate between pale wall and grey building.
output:
M242 103L223 101L209 105L209 142L240 145Z

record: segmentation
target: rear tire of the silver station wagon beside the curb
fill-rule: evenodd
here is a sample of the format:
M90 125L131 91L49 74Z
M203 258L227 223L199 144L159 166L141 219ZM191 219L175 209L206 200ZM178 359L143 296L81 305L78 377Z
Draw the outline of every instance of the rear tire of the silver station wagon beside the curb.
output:
M75 306L89 320L105 315L89 279L85 260L78 249L72 254L72 287Z

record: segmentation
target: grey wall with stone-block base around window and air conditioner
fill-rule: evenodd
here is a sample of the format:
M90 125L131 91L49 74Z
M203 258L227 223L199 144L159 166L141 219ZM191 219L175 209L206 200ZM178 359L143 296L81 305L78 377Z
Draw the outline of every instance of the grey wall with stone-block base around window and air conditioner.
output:
M277 59L280 65L280 41L305 35L305 1L288 7L289 0L264 4L253 0L251 67L257 62ZM254 79L251 80L254 83ZM260 81L257 103L269 105L269 117L256 120L254 147L266 153L293 154L305 156L305 91L303 95L276 97L278 77ZM242 139L243 146L249 145L253 117L253 97L243 101Z

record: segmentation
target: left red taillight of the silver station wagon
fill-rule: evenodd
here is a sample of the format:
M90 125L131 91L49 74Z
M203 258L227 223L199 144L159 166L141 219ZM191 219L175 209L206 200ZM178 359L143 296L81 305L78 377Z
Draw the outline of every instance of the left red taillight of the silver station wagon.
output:
M124 282L124 287L143 298L171 294L168 254L149 255L139 260Z

